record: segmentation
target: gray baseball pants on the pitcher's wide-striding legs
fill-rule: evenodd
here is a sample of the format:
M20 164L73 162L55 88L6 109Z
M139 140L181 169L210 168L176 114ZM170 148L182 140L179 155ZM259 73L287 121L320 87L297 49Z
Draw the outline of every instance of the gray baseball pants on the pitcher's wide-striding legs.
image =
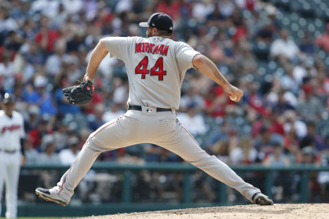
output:
M149 110L143 107L142 112L128 110L124 115L91 133L71 168L65 172L52 190L69 201L75 187L101 152L147 142L162 146L179 155L186 162L238 190L249 201L252 201L252 196L256 192L260 192L258 188L243 181L215 155L208 155L201 149L196 140L176 119L174 111L156 112L155 108L147 108Z

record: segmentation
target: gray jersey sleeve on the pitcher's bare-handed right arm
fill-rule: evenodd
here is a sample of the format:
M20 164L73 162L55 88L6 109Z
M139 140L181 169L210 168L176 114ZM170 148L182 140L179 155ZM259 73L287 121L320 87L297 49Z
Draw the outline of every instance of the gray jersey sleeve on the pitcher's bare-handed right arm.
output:
M200 54L198 51L195 51L191 46L185 42L180 42L176 50L176 58L180 65L180 68L184 71L189 68L193 68L192 60L193 57L197 54Z

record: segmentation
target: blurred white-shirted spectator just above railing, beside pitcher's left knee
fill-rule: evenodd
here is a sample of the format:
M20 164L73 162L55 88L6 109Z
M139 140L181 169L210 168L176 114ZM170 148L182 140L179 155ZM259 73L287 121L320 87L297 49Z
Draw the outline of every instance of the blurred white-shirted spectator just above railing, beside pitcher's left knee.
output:
M75 136L69 138L67 141L67 149L62 149L58 156L60 157L61 164L71 165L73 164L75 157L79 153L79 139Z

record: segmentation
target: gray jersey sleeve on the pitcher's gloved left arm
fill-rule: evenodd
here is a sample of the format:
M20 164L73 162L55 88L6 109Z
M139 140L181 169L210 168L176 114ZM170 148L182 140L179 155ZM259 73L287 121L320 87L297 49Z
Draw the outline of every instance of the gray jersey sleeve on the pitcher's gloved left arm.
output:
M117 57L119 60L125 59L127 57L127 44L128 38L127 37L107 37L103 38L105 47L110 53L110 57Z

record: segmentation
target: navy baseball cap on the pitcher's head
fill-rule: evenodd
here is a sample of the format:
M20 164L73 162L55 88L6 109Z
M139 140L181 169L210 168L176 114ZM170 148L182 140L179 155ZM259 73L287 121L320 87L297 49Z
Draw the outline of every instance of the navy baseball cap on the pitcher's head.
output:
M173 19L165 13L154 13L149 17L149 21L139 23L141 27L156 27L171 33L173 31Z

